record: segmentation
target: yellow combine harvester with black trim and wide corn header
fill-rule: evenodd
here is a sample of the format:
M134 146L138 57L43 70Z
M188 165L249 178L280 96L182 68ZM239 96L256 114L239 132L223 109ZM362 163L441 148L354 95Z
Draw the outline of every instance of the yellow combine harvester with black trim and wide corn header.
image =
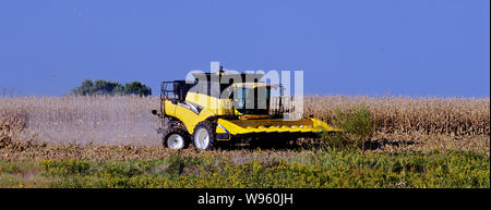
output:
M286 101L282 103L283 96L275 98L276 103L271 96L272 88L282 87L259 82L263 74L219 72L193 76L192 83L161 83L160 111L152 113L161 120L157 132L164 134L164 147L183 149L192 143L196 149L211 150L218 141L290 140L336 131L313 118L285 119L289 109L284 107ZM251 76L255 78L253 83L243 83ZM240 82L218 83L230 79Z

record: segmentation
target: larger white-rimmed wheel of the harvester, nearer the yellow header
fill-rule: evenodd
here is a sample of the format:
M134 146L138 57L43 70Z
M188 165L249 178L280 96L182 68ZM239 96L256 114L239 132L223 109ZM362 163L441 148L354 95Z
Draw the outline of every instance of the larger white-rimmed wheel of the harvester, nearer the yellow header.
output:
M199 150L212 150L216 143L216 125L212 122L201 122L194 127L193 144Z

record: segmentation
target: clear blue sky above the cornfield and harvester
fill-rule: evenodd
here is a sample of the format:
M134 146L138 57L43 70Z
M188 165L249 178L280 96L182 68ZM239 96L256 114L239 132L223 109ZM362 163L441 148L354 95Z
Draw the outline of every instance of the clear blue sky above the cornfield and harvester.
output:
M490 96L489 0L0 1L0 88L304 71L308 95Z

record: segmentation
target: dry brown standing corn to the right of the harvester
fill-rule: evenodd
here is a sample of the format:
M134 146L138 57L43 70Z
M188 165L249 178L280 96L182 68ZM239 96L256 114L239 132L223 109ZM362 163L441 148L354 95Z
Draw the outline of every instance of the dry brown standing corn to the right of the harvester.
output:
M489 98L411 98L314 96L304 98L304 115L327 123L334 110L367 106L379 132L451 135L490 134Z

